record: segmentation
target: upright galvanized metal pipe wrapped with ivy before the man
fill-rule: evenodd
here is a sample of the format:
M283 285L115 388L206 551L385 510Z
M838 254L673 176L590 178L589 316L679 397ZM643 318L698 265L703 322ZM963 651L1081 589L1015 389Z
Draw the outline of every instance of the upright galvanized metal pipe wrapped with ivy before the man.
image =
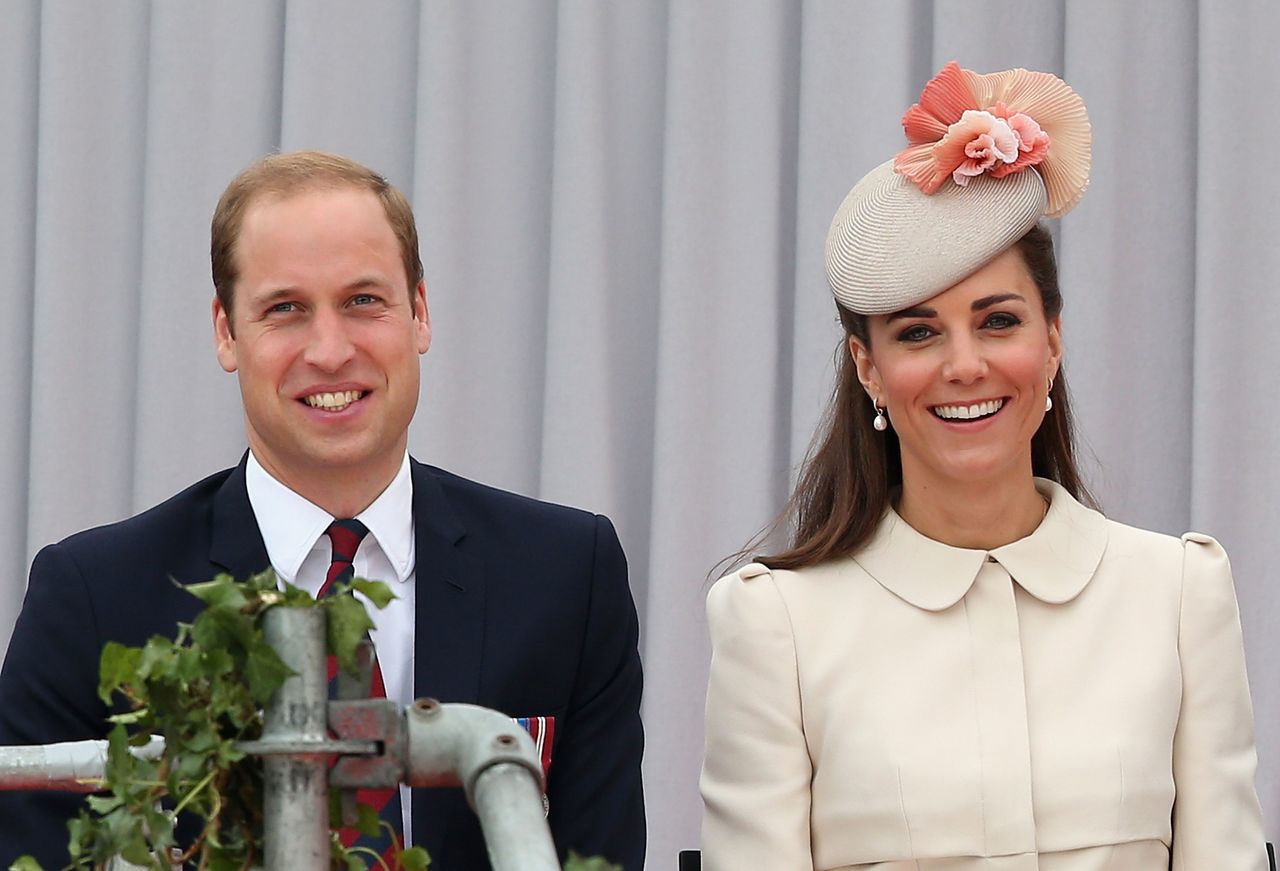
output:
M297 749L262 760L265 867L326 868L328 765L325 754L316 752L328 738L325 614L320 608L271 608L262 616L262 634L297 672L271 697L262 726L264 743L284 742Z

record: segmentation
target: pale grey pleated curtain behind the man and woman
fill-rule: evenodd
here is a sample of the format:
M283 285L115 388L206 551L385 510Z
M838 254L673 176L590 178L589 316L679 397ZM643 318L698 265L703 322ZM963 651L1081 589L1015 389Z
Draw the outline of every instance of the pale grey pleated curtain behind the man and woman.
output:
M342 151L419 215L413 453L618 525L649 867L672 867L707 573L781 507L831 389L827 223L946 60L1023 65L1094 123L1059 228L1091 480L1114 517L1231 553L1280 835L1277 37L1270 0L9 0L0 642L42 544L236 462L209 218L256 156Z

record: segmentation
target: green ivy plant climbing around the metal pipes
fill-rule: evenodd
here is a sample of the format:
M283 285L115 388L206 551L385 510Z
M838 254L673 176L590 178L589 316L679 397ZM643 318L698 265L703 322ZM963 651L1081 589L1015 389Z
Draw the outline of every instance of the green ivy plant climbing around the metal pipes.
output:
M262 637L261 616L274 606L323 608L326 648L338 665L356 671L356 648L372 629L358 590L376 607L393 598L380 582L353 579L333 594L280 584L266 571L237 582L230 575L186 587L205 607L191 624L178 624L173 639L152 637L143 647L110 642L104 647L99 696L108 706L120 697L127 710L110 717L104 793L68 826L72 862L67 871L102 868L113 856L155 871L195 863L202 871L244 871L260 863L262 772L259 760L237 744L261 737L262 707L293 672ZM131 752L150 735L165 738L155 760ZM337 802L334 813L337 815ZM179 813L197 817L200 833L179 847ZM332 827L338 820L330 818ZM376 835L378 815L360 808L357 827ZM422 871L430 857L421 847L397 852L393 867L366 848L347 848L330 835L330 867L340 871ZM566 871L621 871L603 859L571 854ZM24 856L10 871L42 871Z

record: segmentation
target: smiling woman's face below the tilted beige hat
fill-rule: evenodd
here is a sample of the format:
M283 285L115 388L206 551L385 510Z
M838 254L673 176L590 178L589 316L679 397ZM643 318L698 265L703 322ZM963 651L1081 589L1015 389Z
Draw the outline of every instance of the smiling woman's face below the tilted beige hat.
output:
M863 387L888 410L904 482L1030 475L1060 328L1016 248L916 306L868 318L870 347L849 346Z

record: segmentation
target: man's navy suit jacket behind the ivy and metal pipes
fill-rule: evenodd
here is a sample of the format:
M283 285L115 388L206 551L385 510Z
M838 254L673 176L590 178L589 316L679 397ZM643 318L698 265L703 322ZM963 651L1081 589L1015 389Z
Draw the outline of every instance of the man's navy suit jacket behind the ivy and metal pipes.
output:
M417 614L413 690L511 716L554 716L552 835L626 871L644 866L640 658L626 560L608 519L412 462ZM128 520L50 544L0 671L0 744L105 735L99 653L173 637L200 602L173 580L268 566L244 462ZM173 579L173 580L172 580ZM0 792L0 867L67 863L82 798ZM433 871L489 868L460 789L413 792Z

